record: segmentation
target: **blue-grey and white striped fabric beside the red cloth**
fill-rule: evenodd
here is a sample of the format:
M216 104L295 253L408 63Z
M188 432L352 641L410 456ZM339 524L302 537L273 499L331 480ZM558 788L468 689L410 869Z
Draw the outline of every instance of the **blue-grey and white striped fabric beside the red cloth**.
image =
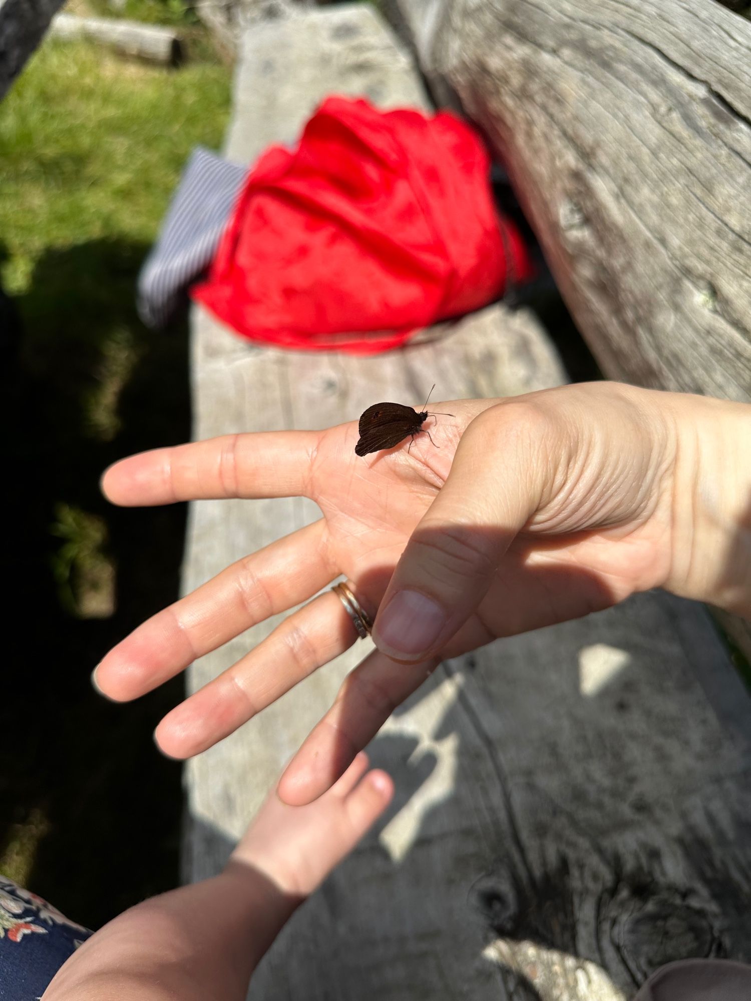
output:
M191 153L138 275L138 315L146 326L166 326L187 286L211 263L245 173L200 146Z

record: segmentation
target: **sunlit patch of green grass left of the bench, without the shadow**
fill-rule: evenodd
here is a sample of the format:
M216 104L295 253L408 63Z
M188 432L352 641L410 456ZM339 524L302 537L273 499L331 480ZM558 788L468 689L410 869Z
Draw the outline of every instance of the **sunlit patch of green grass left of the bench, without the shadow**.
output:
M190 149L216 147L225 67L150 68L86 43L47 43L0 108L0 232L10 291L51 246L149 243Z

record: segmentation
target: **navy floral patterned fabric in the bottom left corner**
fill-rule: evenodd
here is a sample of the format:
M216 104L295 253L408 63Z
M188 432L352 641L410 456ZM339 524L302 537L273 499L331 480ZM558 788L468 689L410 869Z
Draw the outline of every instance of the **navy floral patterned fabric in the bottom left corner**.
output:
M91 934L0 876L0 1001L37 1001Z

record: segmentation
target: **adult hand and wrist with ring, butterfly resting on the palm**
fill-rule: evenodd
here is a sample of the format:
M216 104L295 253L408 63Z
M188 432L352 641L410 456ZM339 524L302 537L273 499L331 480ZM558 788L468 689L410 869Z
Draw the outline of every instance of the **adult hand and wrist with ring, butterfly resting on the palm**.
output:
M455 414L436 427L438 448L421 434L409 451L360 458L347 423L229 435L110 467L103 488L119 505L303 495L322 518L140 626L99 665L101 692L143 695L343 574L365 611L379 610L378 651L282 777L280 797L303 804L444 657L654 587L750 614L751 407L606 382L436 407ZM172 710L159 747L198 754L355 639L338 598L314 598Z

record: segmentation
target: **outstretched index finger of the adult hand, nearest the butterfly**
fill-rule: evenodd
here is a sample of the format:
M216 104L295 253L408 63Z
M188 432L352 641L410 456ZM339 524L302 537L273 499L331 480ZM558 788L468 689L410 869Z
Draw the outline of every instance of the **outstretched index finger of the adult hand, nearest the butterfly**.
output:
M216 497L306 496L320 431L223 434L110 465L104 495L125 508Z

